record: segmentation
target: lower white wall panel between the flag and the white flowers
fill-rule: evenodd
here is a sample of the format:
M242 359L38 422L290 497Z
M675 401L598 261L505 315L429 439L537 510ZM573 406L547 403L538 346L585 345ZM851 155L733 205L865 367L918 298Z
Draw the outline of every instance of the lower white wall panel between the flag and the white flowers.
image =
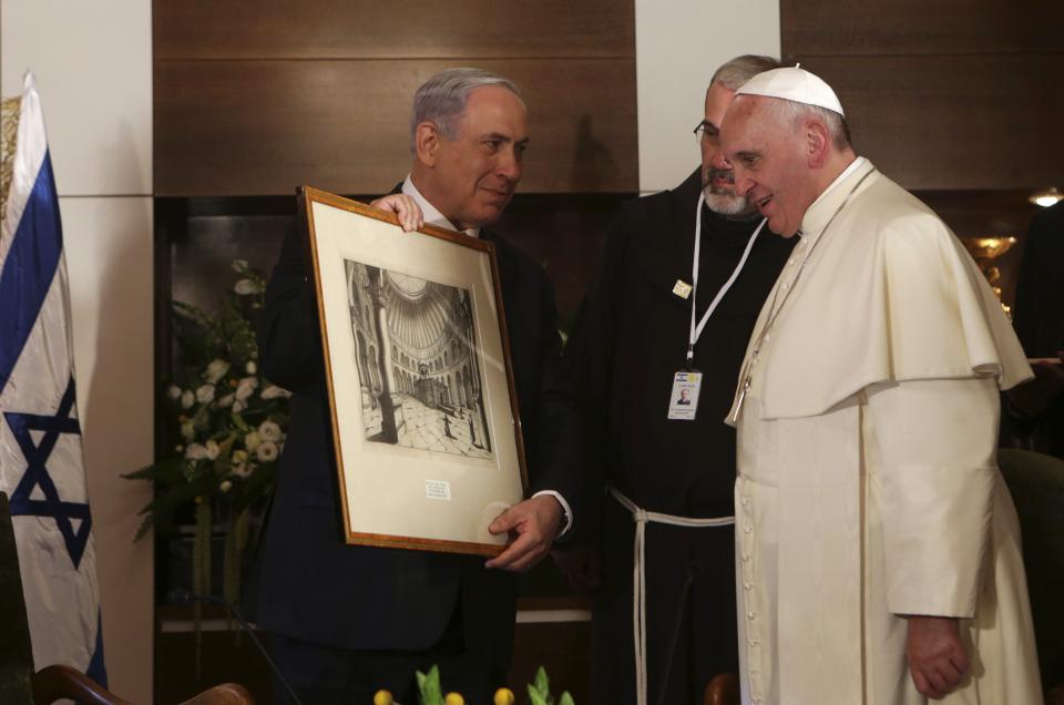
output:
M78 410L96 540L110 688L152 702L153 541L133 543L154 454L152 200L60 198Z

